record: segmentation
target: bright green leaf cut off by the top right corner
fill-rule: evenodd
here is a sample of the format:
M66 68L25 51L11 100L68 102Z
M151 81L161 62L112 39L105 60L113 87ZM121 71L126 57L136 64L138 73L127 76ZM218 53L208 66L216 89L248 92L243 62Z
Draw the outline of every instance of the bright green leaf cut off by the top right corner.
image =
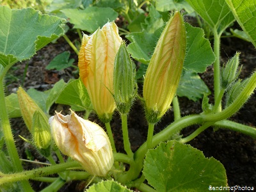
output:
M243 31L256 47L256 3L253 0L225 0Z

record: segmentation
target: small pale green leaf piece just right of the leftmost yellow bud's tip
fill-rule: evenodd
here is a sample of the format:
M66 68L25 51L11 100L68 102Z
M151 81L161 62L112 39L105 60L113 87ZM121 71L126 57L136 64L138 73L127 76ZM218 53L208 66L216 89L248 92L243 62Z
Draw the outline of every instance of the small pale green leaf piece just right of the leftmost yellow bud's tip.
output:
M50 90L47 90L45 92L40 92L38 90L35 90L34 88L30 88L27 91L28 95L35 100L36 104L38 104L38 107L41 108L45 113L47 112L46 109L46 101L49 97Z

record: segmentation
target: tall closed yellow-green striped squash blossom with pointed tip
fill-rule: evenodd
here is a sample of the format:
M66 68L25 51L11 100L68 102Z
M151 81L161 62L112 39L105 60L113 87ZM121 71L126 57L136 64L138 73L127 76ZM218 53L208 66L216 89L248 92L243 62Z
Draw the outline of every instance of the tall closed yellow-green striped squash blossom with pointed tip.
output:
M186 53L186 30L175 12L167 22L147 68L143 85L145 113L155 124L170 108L177 90Z

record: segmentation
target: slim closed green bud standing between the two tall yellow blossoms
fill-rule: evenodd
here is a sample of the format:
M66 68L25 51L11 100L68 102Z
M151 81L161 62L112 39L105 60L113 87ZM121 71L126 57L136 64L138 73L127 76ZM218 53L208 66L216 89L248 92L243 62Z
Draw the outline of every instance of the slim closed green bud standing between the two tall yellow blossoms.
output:
M134 70L129 53L122 42L114 64L114 98L121 114L129 113L135 96Z

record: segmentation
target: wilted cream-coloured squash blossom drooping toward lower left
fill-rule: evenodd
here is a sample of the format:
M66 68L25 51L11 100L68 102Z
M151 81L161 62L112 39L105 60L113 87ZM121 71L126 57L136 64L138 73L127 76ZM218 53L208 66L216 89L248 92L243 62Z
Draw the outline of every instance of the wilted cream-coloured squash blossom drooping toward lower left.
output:
M97 124L71 111L56 113L49 120L52 137L61 152L81 163L88 173L106 176L113 166L113 152L106 132Z

